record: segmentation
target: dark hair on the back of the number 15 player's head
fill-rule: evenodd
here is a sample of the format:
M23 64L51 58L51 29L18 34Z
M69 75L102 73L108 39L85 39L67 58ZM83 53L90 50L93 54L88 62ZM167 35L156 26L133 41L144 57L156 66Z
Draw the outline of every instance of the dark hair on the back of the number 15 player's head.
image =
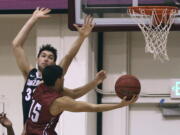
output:
M42 72L42 79L47 86L54 86L58 78L63 75L63 69L57 65L49 65Z

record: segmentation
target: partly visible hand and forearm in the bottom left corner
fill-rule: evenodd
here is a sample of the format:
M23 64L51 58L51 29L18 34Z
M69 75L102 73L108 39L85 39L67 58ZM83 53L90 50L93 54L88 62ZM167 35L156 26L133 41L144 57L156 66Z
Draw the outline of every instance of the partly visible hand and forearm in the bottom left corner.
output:
M2 124L2 126L6 127L8 135L14 135L12 122L6 117L5 114L0 114L0 123Z

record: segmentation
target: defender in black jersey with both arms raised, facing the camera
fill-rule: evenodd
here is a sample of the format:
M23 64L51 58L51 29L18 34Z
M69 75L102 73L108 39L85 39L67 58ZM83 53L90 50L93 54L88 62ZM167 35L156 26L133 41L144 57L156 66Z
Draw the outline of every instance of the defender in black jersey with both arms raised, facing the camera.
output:
M33 68L33 66L30 65L30 63L28 62L27 56L25 54L24 43L31 29L35 25L35 23L40 18L49 17L48 13L50 11L51 10L48 8L37 8L12 42L13 52L17 61L17 65L19 69L21 70L24 79L26 80L25 85L24 85L24 90L22 92L24 123L26 119L28 118L28 113L29 113L31 102L32 102L31 97L34 92L34 89L42 81L41 72L47 65L55 64L56 57L57 57L57 51L55 48L53 48L51 45L43 46L38 53L37 68ZM72 62L73 58L79 51L82 45L82 42L91 33L94 27L94 24L92 24L92 21L93 21L92 17L87 16L85 18L84 25L82 27L74 25L77 31L79 32L79 36L73 43L69 52L64 56L64 58L58 64L59 66L63 68L63 71L64 71L63 74L66 73L70 63ZM83 96L84 94L88 92L84 90L78 91L78 92L75 92L75 91L71 92L68 89L65 89L64 91L67 93L67 95L69 94L69 95L74 95L77 97Z

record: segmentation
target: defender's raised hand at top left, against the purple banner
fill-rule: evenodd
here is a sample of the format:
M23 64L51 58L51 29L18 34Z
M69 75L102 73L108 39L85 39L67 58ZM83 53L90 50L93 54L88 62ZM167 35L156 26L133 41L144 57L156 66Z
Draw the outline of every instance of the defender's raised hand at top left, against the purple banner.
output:
M50 17L48 13L51 12L51 9L49 8L39 8L37 7L36 10L33 12L32 17L38 19L38 18L47 18Z

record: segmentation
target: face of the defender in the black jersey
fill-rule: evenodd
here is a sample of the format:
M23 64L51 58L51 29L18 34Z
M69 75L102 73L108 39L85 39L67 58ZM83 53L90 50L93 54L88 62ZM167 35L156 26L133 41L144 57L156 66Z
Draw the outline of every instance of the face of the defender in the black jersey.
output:
M37 58L38 68L42 71L46 66L55 64L54 55L50 51L42 51Z

